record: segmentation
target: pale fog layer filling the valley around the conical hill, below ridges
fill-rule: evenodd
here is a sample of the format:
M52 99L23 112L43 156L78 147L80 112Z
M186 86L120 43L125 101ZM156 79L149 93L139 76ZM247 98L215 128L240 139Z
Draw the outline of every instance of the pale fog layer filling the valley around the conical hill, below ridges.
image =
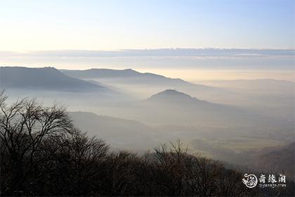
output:
M67 106L77 127L133 151L181 139L189 151L241 164L254 160L254 150L294 141L293 82L218 80L203 81L202 86L137 77L82 80L117 93L8 88L6 94L11 102L27 96L46 106ZM173 94L150 98L166 89Z

